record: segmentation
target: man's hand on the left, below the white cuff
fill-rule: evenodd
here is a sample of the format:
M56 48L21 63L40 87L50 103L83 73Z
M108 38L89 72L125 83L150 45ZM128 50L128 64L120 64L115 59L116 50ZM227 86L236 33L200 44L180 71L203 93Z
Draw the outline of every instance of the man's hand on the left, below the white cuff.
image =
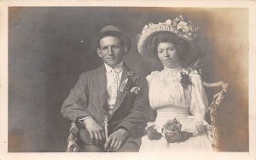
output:
M92 117L84 119L84 125L85 129L90 134L90 139L93 142L95 142L96 144L100 144L103 142L103 140L105 140L104 129L101 125L96 123L96 121Z

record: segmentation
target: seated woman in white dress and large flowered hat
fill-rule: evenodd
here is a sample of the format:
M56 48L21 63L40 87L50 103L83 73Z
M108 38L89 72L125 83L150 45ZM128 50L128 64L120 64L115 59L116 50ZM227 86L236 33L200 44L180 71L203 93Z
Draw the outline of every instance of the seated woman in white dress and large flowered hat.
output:
M155 57L164 66L147 77L156 117L148 123L140 151L212 151L204 120L207 95L195 70L197 31L180 16L150 23L139 36L139 53Z

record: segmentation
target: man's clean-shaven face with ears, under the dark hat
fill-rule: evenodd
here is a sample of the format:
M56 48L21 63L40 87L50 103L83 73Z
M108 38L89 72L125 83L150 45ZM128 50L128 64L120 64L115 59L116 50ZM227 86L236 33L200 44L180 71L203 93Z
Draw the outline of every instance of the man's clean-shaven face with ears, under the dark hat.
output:
M118 65L123 60L127 47L122 45L118 37L107 36L100 40L100 49L97 54L111 67Z

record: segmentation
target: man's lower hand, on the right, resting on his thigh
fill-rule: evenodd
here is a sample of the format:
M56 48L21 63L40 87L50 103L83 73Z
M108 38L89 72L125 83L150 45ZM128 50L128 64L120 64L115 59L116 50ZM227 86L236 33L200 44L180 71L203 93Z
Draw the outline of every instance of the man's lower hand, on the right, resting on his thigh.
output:
M128 137L126 129L118 129L109 135L108 140L105 142L105 151L118 151Z

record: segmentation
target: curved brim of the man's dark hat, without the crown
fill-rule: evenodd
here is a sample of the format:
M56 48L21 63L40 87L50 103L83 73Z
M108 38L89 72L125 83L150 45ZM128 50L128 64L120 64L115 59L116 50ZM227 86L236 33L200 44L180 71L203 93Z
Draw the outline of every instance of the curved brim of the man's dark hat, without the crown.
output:
M102 39L102 37L107 37L107 36L119 37L127 47L127 52L125 54L129 53L129 51L131 50L131 39L121 31L101 31L96 33L95 37L92 38L92 42L91 42L92 49L94 50L99 49L100 40Z

